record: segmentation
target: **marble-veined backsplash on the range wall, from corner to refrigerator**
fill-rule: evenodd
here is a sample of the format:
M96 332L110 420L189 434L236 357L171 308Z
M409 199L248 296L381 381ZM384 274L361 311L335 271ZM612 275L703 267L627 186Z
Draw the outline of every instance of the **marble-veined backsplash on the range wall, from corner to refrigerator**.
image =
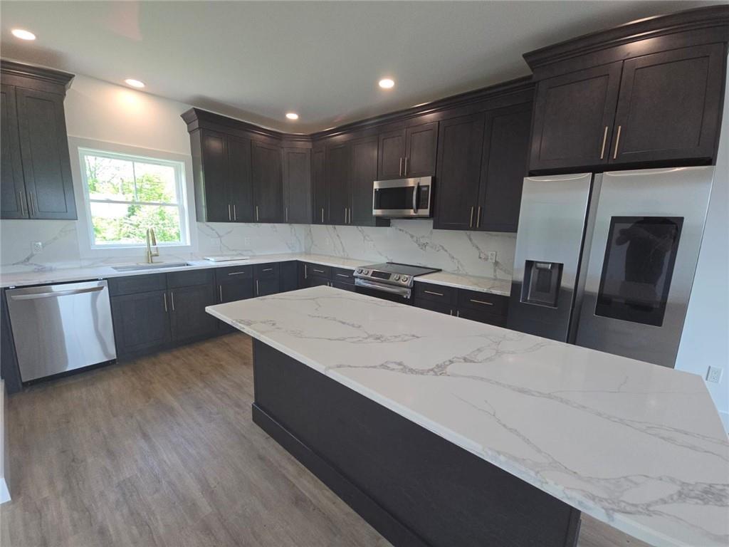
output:
M515 233L434 230L432 220L393 220L389 228L308 227L308 252L401 262L472 276L511 279ZM496 252L496 262L488 253Z

